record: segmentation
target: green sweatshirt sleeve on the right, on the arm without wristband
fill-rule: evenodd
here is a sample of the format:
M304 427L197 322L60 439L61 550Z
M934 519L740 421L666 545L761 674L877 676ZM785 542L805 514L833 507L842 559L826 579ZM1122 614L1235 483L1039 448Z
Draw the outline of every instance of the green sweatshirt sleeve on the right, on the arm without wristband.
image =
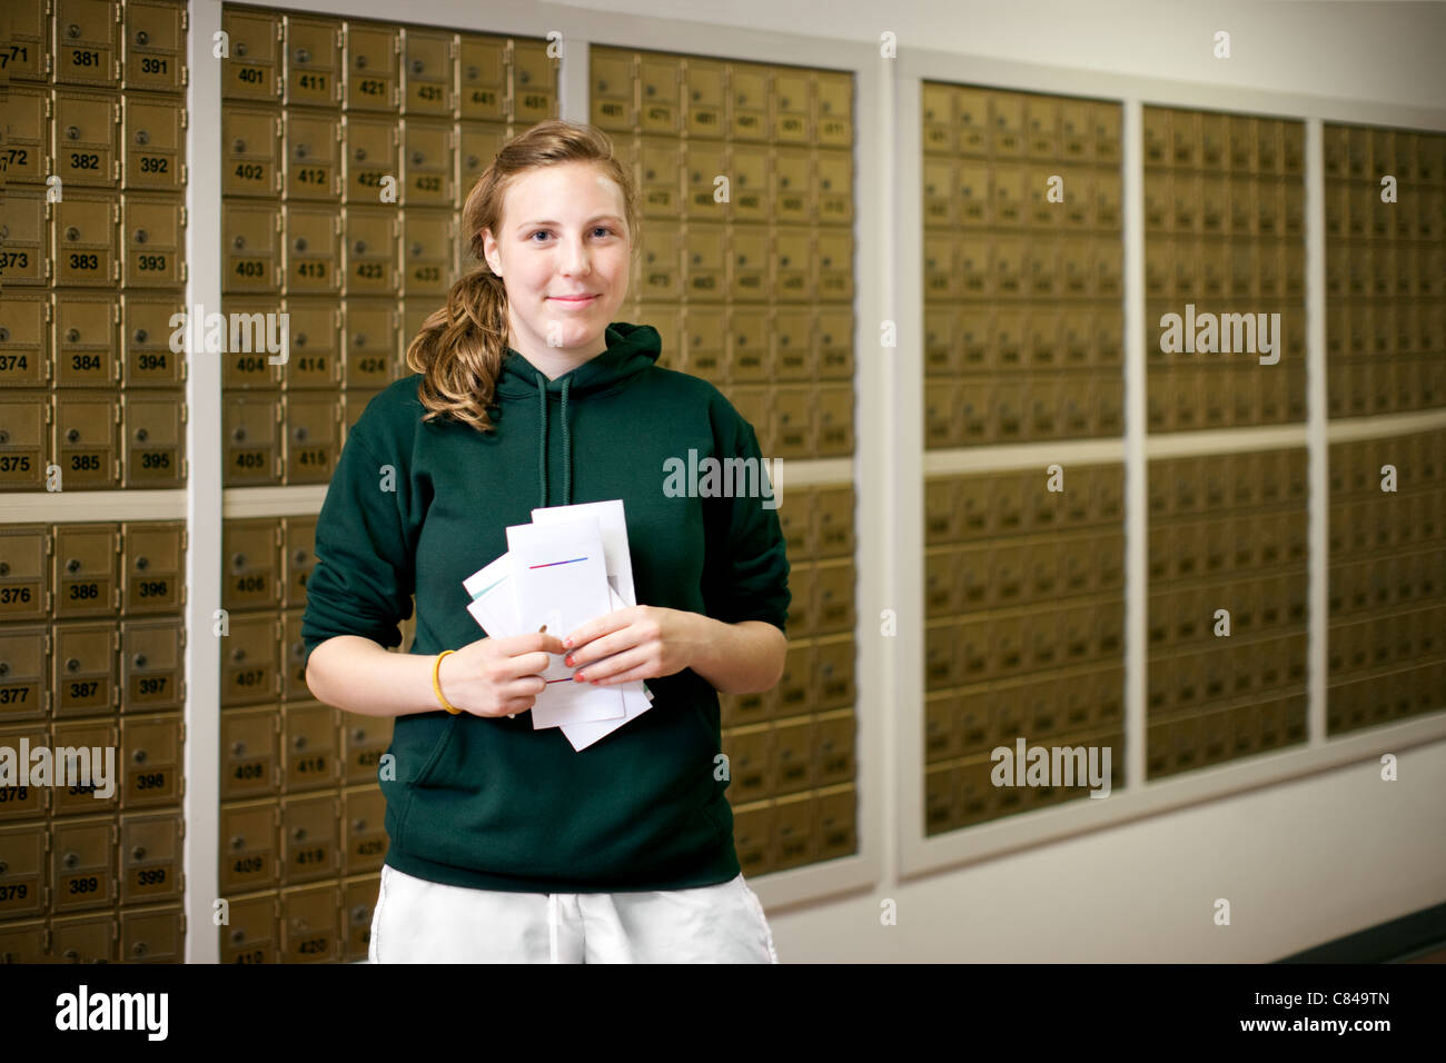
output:
M717 428L716 454L752 458L758 463L758 483L772 484L768 463L758 445L758 434L730 402L723 401L726 415ZM748 466L743 466L746 470ZM752 476L729 477L752 483ZM768 495L774 492L769 489ZM781 498L781 496L777 496ZM707 561L704 565L703 602L707 616L724 623L766 620L788 633L788 552L784 529L778 521L774 498L710 498L706 499Z

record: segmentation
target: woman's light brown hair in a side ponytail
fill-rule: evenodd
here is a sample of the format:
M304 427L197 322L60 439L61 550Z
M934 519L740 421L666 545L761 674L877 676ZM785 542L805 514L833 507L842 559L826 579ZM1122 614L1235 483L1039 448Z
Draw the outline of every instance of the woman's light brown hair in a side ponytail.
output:
M483 231L502 231L502 202L510 184L538 166L590 162L617 182L633 253L638 252L638 197L630 168L613 155L603 130L548 119L502 146L461 210L463 233L477 268L447 292L406 347L406 366L421 373L416 398L424 421L450 417L477 431L495 431L487 408L496 404L497 376L508 353L508 289L483 255Z

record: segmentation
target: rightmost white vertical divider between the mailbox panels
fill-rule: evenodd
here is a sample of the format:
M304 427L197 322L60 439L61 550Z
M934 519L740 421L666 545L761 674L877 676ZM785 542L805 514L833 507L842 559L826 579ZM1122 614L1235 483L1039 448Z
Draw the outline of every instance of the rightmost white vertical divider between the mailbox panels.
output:
M1330 645L1330 451L1326 440L1325 124L1306 119L1306 740L1326 743Z

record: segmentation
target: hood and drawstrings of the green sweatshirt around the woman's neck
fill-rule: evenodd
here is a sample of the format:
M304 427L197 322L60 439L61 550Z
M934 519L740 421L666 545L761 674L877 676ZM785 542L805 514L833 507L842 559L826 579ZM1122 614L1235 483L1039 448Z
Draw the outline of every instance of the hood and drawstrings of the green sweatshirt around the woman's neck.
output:
M568 399L606 395L626 385L633 376L658 362L662 337L652 325L615 321L603 333L607 350L593 356L555 380L534 366L522 354L508 347L497 377L499 399L532 399L538 404L538 508L547 506L547 419L548 395L561 399L562 419L562 503L573 502L573 438L568 422Z

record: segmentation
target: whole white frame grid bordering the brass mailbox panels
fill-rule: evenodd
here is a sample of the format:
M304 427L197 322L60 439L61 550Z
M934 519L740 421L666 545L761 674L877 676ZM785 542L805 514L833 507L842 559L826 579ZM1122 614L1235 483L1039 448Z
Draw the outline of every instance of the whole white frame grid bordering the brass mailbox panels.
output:
M330 17L393 22L399 12L388 0L250 0L247 6L295 10ZM211 33L221 26L220 0L191 0L185 106L189 182L185 191L189 226L187 256L188 307L220 305L220 142L210 120L220 114L220 69L211 58ZM1355 761L1382 749L1446 739L1446 719L1419 717L1374 726L1365 733L1327 740L1325 736L1325 554L1327 513L1326 454L1329 441L1420 431L1446 425L1446 411L1333 421L1325 418L1325 205L1322 123L1378 123L1391 127L1446 130L1446 110L1330 97L1200 85L1161 78L1041 67L986 56L914 49L898 59L881 58L876 45L779 35L733 26L654 19L561 4L502 0L479 9L469 0L431 0L425 10L402 12L409 25L496 35L545 38L564 30L561 108L567 117L587 116L587 45L667 51L722 59L746 59L847 71L855 75L855 395L856 448L850 458L791 464L790 483L853 482L857 509L857 571L869 573L857 593L859 755L855 778L859 798L855 856L791 871L755 882L769 908L868 891L956 868L1009 850L1070 837L1087 830L1160 814L1257 787L1274 785ZM925 453L923 447L923 217L908 189L921 185L920 81L980 84L1002 90L1121 100L1125 226L1125 435L1122 440L1070 443L1076 460L1125 461L1126 470L1126 788L1105 801L1044 808L982 823L949 834L923 834L923 480L925 474L1035 464L1040 451L1057 443ZM1144 431L1144 224L1139 159L1144 104L1277 114L1306 121L1306 278L1307 278L1307 422L1285 428L1220 430L1147 438ZM892 123L892 124L891 124ZM862 145L892 150L860 150ZM899 191L904 195L899 195ZM894 321L899 346L882 350L872 323ZM873 354L875 356L869 356ZM0 521L56 522L71 519L185 518L187 551L187 704L185 704L185 913L188 962L215 962L217 936L210 914L217 895L220 817L220 694L198 681L220 674L220 648L201 638L220 607L221 519L314 513L324 486L220 487L220 366L189 357L187 382L189 476L185 490L85 492L68 498L40 493L6 496ZM1174 453L1272 448L1304 441L1310 454L1310 739L1303 748L1264 754L1248 761L1190 772L1158 782L1144 781L1144 613L1145 483L1148 457ZM878 499L879 505L865 505ZM889 515L892 513L892 519ZM873 636L873 618L895 610L899 633ZM885 816L892 808L895 814Z

